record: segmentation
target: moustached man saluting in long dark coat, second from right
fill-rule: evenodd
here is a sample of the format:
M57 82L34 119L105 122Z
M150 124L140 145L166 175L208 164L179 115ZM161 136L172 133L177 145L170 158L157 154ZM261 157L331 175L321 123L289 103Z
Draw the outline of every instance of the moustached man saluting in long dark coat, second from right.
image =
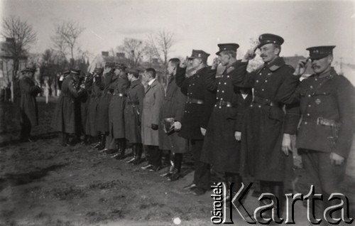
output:
M280 58L284 40L270 33L259 36L260 56L264 65L256 71L246 72L248 61L255 50L248 50L242 59L239 72L233 77L236 87L253 88L253 102L244 114L244 123L236 136L241 136L241 172L260 181L261 193L281 197L275 215L283 214L284 181L290 181L293 169L291 134L295 134L299 109L290 104L299 79L294 69ZM285 112L283 107L285 106ZM261 205L270 204L262 201ZM271 210L262 217L271 217ZM261 216L258 216L261 217ZM265 219L265 218L264 218ZM276 219L276 218L275 218Z

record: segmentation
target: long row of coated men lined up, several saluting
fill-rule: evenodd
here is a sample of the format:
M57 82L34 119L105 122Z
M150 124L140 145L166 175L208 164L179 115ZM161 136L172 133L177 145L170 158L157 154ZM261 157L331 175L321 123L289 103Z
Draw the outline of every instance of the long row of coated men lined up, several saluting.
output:
M307 48L310 57L293 68L279 56L283 42L263 34L241 60L236 60L238 44L219 44L212 66L203 50L192 50L185 62L170 59L166 91L153 68L142 74L146 87L138 71L123 64L96 68L82 85L80 72L72 70L62 82L52 126L67 144L67 134L78 131L80 98L87 95L84 134L100 136L96 147L114 158L125 158L128 140L133 150L128 162L141 163L144 146L148 165L142 168L159 171L161 150L170 150L173 167L164 176L175 181L188 144L195 174L185 189L195 195L209 189L212 166L219 181L240 184L252 176L261 192L283 197L285 183L293 179L291 136L297 134L305 171L327 198L339 191L351 149L354 87L332 68L334 45ZM256 50L264 64L248 72ZM309 62L315 73L300 82ZM33 96L38 92L32 91ZM322 216L325 208L317 203L311 211Z

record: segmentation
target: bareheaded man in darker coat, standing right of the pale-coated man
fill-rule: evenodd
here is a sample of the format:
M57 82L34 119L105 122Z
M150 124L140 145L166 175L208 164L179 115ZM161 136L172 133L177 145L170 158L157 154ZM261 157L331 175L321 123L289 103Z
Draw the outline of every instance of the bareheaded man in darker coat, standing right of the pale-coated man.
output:
M181 177L182 154L187 151L186 140L179 136L181 119L185 110L186 97L175 82L176 70L180 65L178 58L168 62L168 85L160 112L159 148L173 153L172 166L168 168L168 181L176 181Z

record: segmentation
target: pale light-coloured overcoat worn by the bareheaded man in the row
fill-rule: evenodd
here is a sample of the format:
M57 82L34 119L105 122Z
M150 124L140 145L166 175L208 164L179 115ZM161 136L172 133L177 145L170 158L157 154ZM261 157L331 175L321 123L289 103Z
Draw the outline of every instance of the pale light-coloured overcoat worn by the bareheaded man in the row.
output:
M142 143L143 145L159 146L158 130L153 130L151 125L159 125L160 107L164 98L164 88L158 82L154 82L146 89L143 98L142 114Z

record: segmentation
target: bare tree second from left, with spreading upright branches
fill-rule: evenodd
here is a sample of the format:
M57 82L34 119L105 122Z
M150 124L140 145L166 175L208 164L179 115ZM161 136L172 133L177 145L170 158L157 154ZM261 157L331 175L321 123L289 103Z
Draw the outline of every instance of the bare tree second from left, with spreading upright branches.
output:
M60 24L55 24L55 35L51 37L55 48L60 53L65 54L65 50L69 48L70 56L74 60L74 50L84 27L80 23L74 21L63 21Z

